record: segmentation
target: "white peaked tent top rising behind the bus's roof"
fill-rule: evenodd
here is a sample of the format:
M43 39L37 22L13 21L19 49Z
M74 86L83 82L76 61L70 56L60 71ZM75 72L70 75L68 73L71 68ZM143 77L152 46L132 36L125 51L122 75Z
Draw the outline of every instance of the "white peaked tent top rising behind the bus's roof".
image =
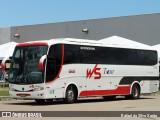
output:
M151 48L151 46L142 44L136 41L132 41L126 38L122 38L119 36L111 36L109 38L101 39L100 42L103 42L108 45L120 45L127 47L137 47L137 48Z

